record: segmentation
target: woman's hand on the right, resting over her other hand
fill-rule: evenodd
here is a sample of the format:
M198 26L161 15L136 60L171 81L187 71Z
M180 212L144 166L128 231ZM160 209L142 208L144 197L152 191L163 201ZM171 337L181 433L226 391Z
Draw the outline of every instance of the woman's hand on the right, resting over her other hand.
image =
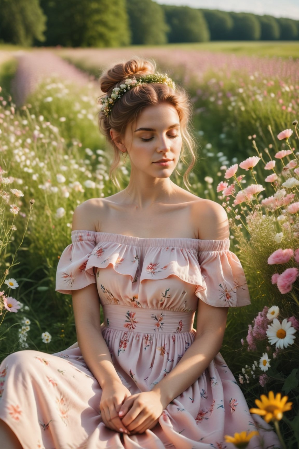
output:
M118 415L130 433L143 433L156 426L163 410L160 394L150 391L128 397Z

